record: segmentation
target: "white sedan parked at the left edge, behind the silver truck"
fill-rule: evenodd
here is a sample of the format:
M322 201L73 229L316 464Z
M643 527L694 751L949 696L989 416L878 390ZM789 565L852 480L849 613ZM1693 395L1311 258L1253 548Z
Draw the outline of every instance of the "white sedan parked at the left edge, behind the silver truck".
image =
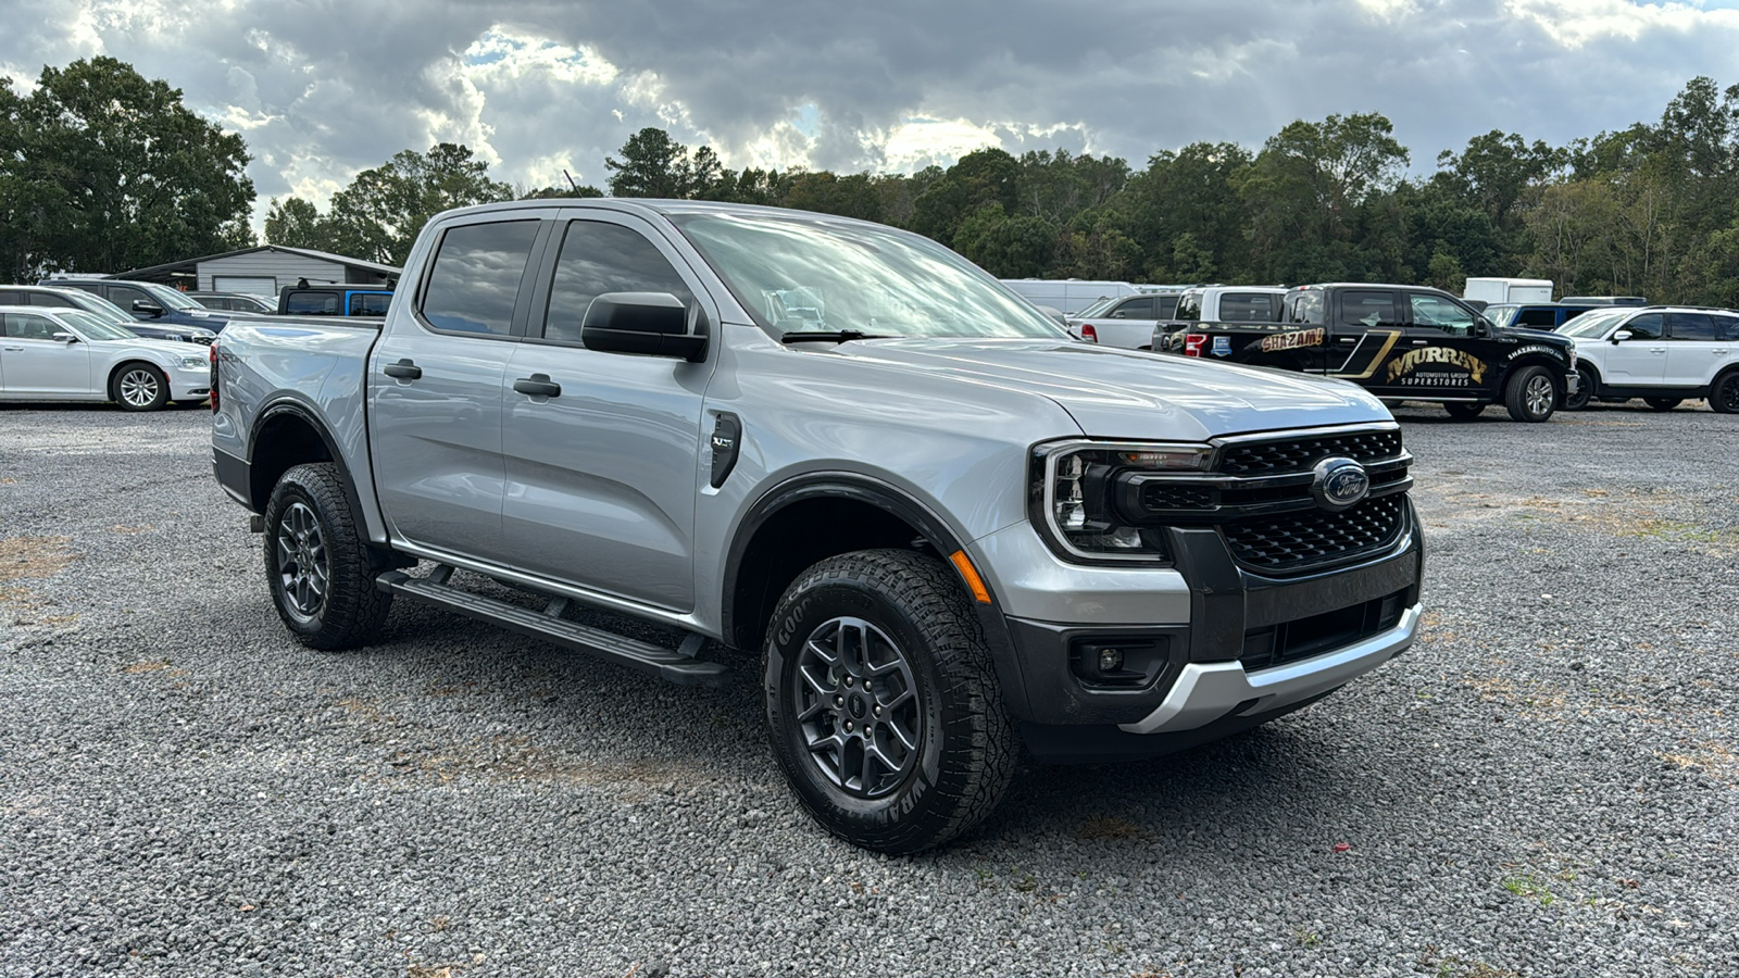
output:
M141 339L83 310L0 306L0 400L113 400L157 411L210 393L210 352Z

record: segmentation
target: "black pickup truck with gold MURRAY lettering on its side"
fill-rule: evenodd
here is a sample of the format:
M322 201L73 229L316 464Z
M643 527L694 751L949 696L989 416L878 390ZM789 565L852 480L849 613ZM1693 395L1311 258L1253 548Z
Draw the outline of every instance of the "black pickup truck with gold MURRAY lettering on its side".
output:
M1516 421L1546 421L1577 390L1574 339L1494 325L1424 285L1299 285L1282 322L1196 324L1172 350L1353 381L1386 402L1429 400L1462 419L1501 402Z

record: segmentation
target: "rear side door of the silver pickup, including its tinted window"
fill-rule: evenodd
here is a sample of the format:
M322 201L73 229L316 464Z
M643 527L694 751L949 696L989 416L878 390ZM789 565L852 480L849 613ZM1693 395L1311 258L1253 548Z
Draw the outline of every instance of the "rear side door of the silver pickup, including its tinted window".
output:
M501 386L523 332L522 289L544 223L454 223L407 315L369 364L369 451L381 512L414 545L508 562L501 538Z

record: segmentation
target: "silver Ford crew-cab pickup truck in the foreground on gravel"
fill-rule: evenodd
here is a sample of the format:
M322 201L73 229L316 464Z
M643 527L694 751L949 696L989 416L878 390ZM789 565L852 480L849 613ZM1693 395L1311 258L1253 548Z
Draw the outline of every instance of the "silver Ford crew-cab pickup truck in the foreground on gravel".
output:
M1078 343L878 224L452 211L379 329L237 320L214 350L212 465L303 644L365 644L398 597L675 682L758 670L802 804L887 853L983 820L1021 741L1226 736L1419 623L1374 397Z

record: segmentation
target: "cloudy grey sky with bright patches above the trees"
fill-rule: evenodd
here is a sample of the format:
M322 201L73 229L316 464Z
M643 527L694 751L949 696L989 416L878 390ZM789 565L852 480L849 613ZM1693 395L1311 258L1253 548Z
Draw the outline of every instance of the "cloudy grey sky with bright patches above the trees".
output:
M110 54L238 131L270 197L403 148L603 186L645 125L725 165L911 171L1000 144L1136 167L1381 111L1429 172L1502 129L1563 143L1739 84L1739 0L3 0L0 73Z

